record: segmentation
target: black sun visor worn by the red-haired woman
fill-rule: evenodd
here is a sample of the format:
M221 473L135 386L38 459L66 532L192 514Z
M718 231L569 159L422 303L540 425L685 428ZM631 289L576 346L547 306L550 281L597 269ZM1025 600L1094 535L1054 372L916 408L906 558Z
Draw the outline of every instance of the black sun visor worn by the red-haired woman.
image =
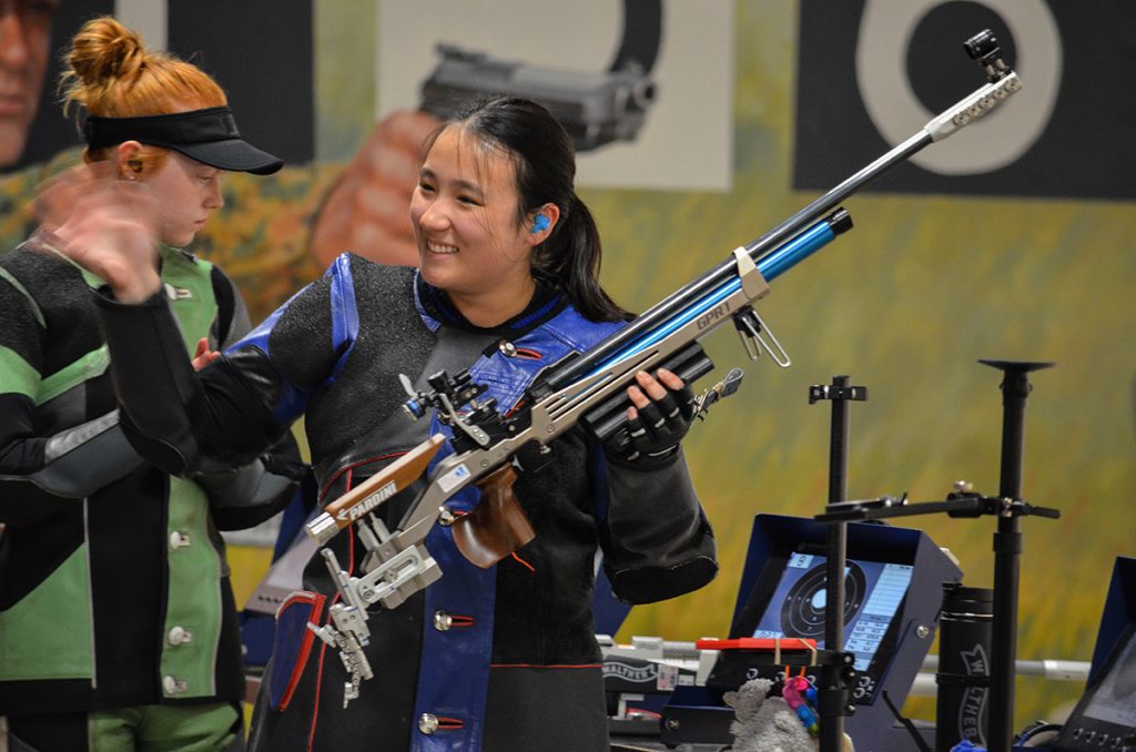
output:
M90 149L137 141L165 147L218 169L270 175L284 162L241 139L227 107L143 117L89 117L83 125Z

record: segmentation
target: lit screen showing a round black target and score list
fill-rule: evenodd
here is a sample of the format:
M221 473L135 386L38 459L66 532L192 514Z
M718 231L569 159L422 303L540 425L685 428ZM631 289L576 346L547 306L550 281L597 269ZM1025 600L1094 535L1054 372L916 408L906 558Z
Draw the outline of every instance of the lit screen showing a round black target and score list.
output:
M753 637L809 637L824 646L825 557L795 551L758 620ZM855 669L867 671L900 610L910 565L849 559L844 580L844 650L855 655Z

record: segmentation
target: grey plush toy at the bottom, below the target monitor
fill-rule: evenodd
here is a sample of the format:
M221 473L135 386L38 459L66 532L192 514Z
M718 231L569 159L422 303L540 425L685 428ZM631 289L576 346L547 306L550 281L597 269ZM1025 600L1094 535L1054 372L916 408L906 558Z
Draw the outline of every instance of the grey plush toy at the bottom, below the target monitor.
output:
M736 720L733 752L817 752L817 743L783 697L767 697L772 682L750 679L724 695Z

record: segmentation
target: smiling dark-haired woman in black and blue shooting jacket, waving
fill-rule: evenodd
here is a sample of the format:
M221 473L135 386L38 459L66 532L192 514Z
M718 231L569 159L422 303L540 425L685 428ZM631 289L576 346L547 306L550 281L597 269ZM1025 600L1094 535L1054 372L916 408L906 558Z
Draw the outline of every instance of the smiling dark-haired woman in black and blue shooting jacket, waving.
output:
M200 374L153 345L174 328L157 286L142 299L136 275L111 281L116 299L100 299L99 310L123 412L159 440L172 470L254 456L303 415L321 499L332 501L448 431L436 417L406 420L401 374L426 388L440 370L469 369L506 412L544 366L624 325L628 315L599 284L600 239L575 193L571 141L548 110L524 99L481 102L424 153L410 210L420 271L344 253ZM136 231L144 240L145 228ZM95 273L130 269L122 245L132 241L119 241L91 235L66 252ZM632 603L688 592L717 571L678 446L691 392L665 370L637 381L629 418L641 429L629 450L569 432L545 467L517 479L536 537L515 557L482 569L449 527L434 526L426 548L445 574L398 609L371 613L375 676L349 708L340 661L312 649L311 632L277 629L250 746L605 752L591 611L598 552ZM417 491L376 513L398 525ZM446 504L460 515L478 501L470 487ZM358 573L364 546L353 536L329 545ZM315 557L304 593L277 619L325 623L335 594Z

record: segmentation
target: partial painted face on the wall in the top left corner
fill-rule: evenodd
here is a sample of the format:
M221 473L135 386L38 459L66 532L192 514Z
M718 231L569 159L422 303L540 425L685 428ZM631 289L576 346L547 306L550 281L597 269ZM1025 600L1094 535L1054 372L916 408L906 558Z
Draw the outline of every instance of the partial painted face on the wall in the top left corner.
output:
M16 164L40 107L57 0L0 0L0 170Z

